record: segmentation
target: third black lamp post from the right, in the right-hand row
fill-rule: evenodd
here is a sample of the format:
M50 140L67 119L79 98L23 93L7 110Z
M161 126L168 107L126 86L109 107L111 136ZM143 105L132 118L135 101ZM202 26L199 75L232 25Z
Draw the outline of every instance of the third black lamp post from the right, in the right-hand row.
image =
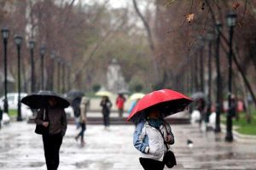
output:
M212 33L207 33L208 43L208 99L207 99L207 116L206 123L209 122L209 116L212 110Z

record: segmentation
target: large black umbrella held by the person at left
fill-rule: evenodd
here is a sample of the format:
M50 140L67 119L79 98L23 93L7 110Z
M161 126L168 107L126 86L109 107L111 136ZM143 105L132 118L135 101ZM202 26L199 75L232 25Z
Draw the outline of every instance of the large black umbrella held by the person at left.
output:
M56 99L55 107L66 108L69 105L67 99L52 91L39 91L37 94L30 94L21 99L21 103L28 105L31 109L46 108L49 106L49 99Z

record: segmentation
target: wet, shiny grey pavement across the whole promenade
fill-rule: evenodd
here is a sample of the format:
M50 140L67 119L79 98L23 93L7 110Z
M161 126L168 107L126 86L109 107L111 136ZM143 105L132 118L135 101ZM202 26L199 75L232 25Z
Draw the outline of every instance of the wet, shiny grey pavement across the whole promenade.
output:
M33 133L34 124L11 122L0 130L1 170L43 170L43 143ZM61 145L60 170L137 170L138 152L132 145L134 126L115 125L104 130L101 125L88 125L84 147L74 139L79 130L68 125ZM177 156L174 169L256 169L256 143L224 142L212 132L201 133L195 125L173 125L176 143L172 150ZM187 139L193 141L188 147ZM166 168L167 169L167 168Z

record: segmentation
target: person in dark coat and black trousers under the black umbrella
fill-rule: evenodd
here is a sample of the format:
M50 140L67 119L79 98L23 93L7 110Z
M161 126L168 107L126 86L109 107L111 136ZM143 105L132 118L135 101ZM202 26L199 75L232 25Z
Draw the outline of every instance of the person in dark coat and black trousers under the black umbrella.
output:
M49 99L49 107L40 109L35 118L38 125L47 127L48 132L43 133L44 156L48 170L56 170L59 167L59 152L62 139L67 130L67 117L64 109L55 107L57 100Z

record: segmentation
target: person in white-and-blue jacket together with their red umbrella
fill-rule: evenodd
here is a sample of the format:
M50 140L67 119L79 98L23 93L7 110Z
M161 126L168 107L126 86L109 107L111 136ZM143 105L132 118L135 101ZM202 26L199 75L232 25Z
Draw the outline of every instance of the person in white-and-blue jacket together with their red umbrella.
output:
M133 144L141 152L139 161L145 170L162 170L165 165L176 165L169 146L174 144L174 136L164 117L183 111L191 101L183 94L163 89L146 94L137 102L127 121L137 125Z

